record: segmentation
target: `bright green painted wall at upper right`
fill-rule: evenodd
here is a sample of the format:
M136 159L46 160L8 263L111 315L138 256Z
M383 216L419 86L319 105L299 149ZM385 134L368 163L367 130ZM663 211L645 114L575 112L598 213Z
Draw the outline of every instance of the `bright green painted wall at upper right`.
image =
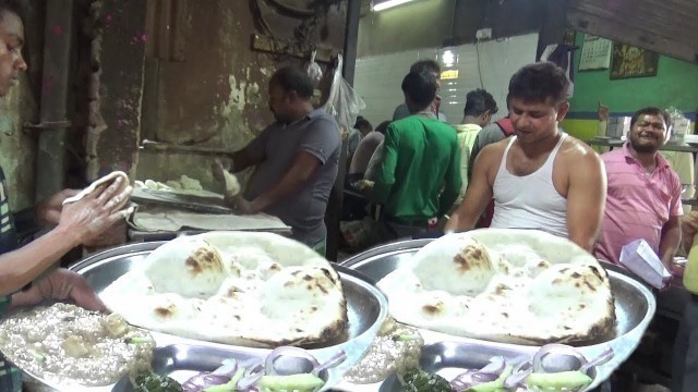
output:
M581 47L583 34L577 33ZM575 52L575 71L581 50ZM674 106L684 112L698 111L698 64L660 56L655 77L610 78L611 70L575 73L574 112L597 112L599 101L611 112L634 112L646 106Z

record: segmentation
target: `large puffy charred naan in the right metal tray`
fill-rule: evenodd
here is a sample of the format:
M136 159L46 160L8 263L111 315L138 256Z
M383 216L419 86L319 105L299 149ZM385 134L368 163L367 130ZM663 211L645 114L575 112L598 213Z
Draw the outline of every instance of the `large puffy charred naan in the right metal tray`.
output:
M533 230L448 234L378 282L411 326L519 344L589 341L612 332L605 270L574 243Z

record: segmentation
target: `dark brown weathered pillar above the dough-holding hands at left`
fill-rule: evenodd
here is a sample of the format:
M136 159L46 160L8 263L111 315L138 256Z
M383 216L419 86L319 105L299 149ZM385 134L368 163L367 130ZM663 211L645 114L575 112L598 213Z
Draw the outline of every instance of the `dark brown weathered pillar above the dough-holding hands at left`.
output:
M146 2L95 1L93 10L101 34L92 42L87 179L113 170L133 177L139 160Z

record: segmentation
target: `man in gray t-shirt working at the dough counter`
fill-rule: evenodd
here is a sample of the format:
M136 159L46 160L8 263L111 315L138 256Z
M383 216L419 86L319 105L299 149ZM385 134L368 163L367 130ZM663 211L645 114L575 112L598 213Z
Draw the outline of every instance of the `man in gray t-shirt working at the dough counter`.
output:
M243 212L264 211L293 230L293 238L324 254L324 217L337 177L341 138L335 119L313 110L313 84L294 68L269 81L269 108L276 122L232 154L232 172L256 166L245 197L228 203Z

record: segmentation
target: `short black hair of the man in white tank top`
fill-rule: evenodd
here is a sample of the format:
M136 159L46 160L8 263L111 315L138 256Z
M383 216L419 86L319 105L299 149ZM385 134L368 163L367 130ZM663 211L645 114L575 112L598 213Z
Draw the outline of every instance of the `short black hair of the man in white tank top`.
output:
M565 71L551 62L529 64L518 70L509 81L509 98L527 102L545 102L555 106L569 97L569 79Z

